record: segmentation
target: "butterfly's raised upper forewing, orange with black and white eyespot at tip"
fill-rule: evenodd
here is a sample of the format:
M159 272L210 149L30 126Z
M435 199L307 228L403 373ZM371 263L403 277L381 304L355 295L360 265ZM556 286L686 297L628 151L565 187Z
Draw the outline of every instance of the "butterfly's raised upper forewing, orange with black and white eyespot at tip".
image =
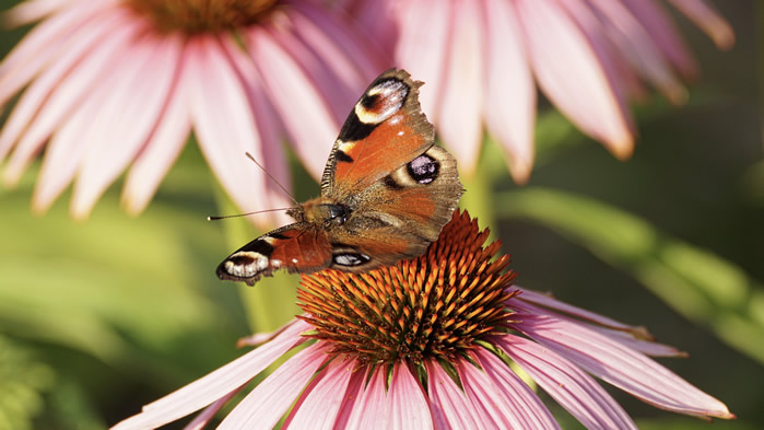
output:
M337 200L363 191L415 159L435 140L419 88L404 70L388 70L366 89L329 154L321 194Z

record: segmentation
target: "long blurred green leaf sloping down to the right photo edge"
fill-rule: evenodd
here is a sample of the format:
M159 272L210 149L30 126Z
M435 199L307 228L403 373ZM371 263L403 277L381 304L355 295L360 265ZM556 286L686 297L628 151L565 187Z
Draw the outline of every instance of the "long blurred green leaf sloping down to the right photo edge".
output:
M764 362L764 289L719 256L591 198L548 188L501 194L497 213L546 225L633 274L679 313Z

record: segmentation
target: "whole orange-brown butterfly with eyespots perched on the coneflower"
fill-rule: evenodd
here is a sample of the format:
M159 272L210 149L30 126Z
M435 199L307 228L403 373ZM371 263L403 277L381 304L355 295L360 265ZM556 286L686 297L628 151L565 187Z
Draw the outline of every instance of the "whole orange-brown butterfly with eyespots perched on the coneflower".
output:
M404 70L380 74L355 103L329 154L321 196L286 213L218 266L255 284L277 269L361 272L424 254L463 191L456 160L436 147L419 88Z

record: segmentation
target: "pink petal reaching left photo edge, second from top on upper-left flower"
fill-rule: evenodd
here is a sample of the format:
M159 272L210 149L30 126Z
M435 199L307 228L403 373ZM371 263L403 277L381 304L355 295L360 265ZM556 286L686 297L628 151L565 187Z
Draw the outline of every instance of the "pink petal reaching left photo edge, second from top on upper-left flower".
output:
M36 25L0 65L0 105L33 80L61 54L61 47L78 30L97 18L97 1L82 1Z

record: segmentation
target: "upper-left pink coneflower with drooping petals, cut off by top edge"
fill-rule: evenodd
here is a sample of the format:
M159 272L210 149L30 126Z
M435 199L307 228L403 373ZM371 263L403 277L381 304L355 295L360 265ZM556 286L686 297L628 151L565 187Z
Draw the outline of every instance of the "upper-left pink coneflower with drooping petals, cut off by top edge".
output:
M0 132L3 179L15 184L47 143L33 207L77 176L75 217L128 166L124 202L141 211L191 129L243 210L282 207L245 151L289 185L289 136L318 177L381 70L349 23L309 0L32 0L5 18L40 22L0 65L0 106L23 90Z

